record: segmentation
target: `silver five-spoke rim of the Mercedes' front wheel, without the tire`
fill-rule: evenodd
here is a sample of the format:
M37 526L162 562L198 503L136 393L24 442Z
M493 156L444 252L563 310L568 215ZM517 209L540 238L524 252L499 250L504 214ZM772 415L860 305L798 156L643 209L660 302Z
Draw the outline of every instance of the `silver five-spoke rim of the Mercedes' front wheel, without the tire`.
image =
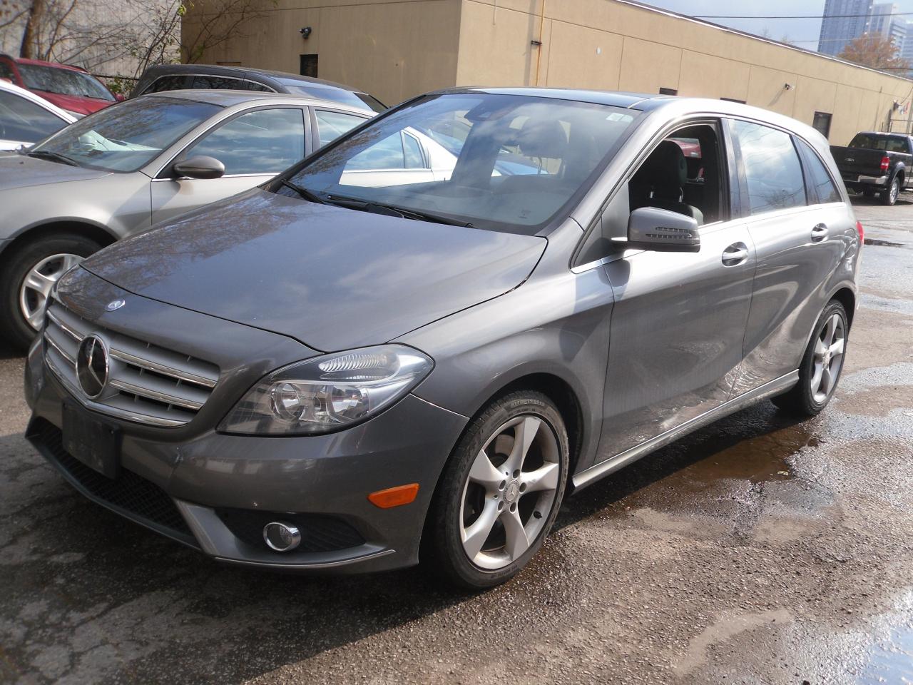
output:
M469 469L460 503L460 539L469 560L497 570L536 541L561 478L558 438L538 416L499 427Z

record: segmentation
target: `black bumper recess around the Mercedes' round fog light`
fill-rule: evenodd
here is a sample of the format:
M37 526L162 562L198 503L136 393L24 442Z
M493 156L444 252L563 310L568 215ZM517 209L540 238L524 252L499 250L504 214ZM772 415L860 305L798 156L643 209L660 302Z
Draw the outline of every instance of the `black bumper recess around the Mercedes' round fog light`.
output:
M358 531L334 516L245 509L217 509L215 513L240 540L262 549L267 548L263 541L263 527L273 521L298 526L301 543L295 548L296 552L334 552L364 543Z

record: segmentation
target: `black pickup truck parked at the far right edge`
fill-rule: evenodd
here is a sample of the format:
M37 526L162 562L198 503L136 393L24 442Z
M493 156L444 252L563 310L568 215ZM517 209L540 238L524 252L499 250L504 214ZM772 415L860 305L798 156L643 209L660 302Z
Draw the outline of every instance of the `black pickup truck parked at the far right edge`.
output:
M847 147L831 145L844 184L882 205L893 205L913 182L913 139L902 133L860 132Z

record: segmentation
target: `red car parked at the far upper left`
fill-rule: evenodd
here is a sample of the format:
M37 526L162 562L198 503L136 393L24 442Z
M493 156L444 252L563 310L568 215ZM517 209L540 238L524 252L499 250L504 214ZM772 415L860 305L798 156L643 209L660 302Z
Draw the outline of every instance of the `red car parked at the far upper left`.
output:
M9 79L77 115L91 114L118 100L85 69L55 62L0 55L0 79Z

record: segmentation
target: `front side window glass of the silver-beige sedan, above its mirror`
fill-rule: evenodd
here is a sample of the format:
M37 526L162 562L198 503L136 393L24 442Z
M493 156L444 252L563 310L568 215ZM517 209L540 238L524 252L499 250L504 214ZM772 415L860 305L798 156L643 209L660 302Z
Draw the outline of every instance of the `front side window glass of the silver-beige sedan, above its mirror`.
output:
M249 111L219 126L184 152L226 165L226 174L278 174L304 157L301 110Z

